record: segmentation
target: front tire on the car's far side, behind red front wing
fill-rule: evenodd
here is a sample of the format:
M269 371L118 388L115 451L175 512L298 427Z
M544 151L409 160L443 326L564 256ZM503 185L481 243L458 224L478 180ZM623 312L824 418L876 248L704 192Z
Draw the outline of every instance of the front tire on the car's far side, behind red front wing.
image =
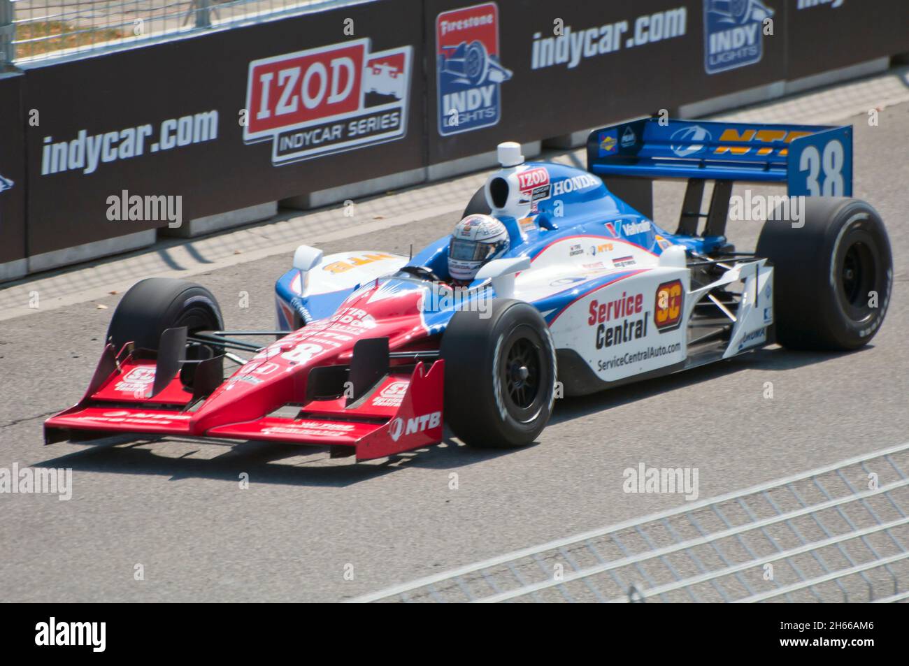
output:
M119 352L125 343L137 349L158 350L161 333L185 326L187 333L224 329L221 308L205 287L165 277L135 283L116 306L107 329L107 342Z

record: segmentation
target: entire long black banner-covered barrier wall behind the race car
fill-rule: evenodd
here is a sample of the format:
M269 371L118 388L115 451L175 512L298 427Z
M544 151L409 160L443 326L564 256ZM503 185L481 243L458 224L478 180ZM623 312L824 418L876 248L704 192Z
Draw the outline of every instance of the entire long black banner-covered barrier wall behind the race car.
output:
M0 78L0 264L904 53L907 25L905 0L375 0L35 66Z

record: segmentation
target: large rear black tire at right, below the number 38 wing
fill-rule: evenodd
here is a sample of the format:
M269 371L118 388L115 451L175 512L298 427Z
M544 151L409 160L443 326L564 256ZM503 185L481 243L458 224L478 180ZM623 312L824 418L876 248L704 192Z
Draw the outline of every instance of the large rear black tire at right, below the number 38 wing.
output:
M848 351L884 322L894 263L884 223L864 201L806 197L802 222L764 223L757 255L774 266L776 340L799 350Z

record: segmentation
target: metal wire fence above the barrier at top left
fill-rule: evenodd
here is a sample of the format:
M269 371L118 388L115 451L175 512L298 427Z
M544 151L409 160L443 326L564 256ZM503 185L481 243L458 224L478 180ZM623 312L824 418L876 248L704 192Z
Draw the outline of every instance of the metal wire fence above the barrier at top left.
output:
M352 0L0 0L0 65L344 4Z

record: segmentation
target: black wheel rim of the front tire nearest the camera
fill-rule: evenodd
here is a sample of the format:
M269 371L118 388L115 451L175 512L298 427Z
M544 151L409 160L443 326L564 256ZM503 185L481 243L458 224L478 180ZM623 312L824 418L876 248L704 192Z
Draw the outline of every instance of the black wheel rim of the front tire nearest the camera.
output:
M546 372L542 341L530 329L518 330L504 344L499 381L505 408L515 421L533 421L544 401Z

